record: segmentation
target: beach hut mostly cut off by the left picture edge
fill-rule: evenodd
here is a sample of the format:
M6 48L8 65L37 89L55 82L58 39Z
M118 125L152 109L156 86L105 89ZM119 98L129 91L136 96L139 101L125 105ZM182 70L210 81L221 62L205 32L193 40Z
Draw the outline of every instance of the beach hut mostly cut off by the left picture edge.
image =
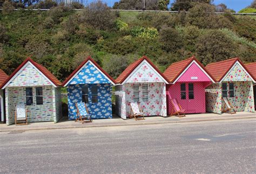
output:
M8 75L5 74L5 72L0 69L0 86L3 85L3 82L8 79ZM0 89L0 122L4 122L5 121L5 108L4 108L4 105L5 105L5 101L4 101L4 90L3 89Z

